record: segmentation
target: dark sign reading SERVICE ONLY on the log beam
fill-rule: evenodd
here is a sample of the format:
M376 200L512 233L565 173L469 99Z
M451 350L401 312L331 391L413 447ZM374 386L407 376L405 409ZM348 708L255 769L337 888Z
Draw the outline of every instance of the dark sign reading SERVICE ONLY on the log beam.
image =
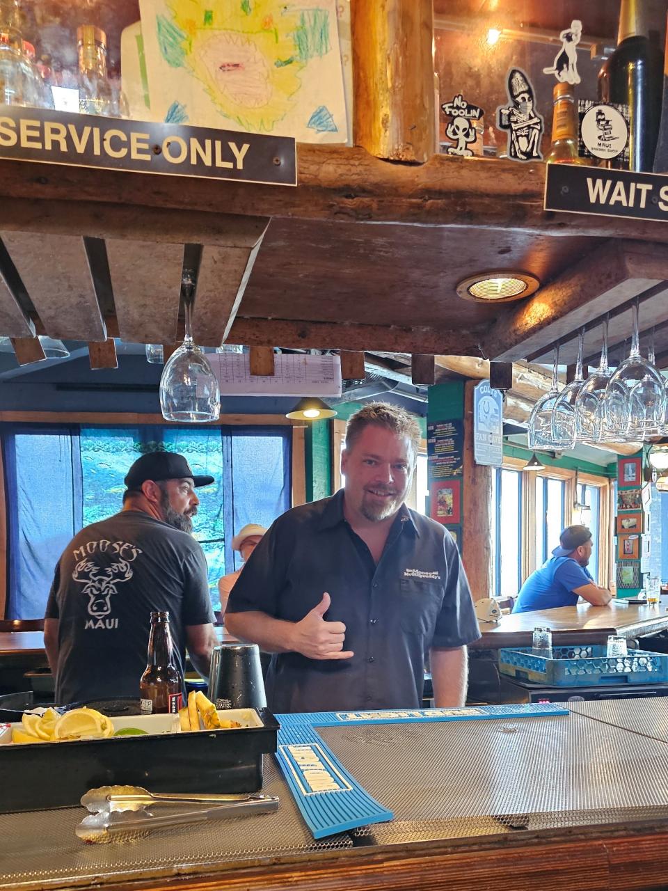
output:
M297 185L296 143L266 136L0 105L0 158Z

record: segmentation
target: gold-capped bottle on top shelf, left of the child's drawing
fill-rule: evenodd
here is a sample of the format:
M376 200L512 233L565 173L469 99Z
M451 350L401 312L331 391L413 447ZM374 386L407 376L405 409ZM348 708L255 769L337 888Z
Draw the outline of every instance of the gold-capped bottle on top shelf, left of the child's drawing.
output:
M94 25L77 28L79 110L108 118L126 118L125 96L107 74L107 35Z

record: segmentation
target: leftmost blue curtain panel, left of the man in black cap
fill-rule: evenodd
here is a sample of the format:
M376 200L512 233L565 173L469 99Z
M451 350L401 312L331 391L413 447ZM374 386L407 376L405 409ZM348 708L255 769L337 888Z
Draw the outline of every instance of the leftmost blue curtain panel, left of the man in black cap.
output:
M42 618L61 552L82 525L77 431L4 428L8 618Z

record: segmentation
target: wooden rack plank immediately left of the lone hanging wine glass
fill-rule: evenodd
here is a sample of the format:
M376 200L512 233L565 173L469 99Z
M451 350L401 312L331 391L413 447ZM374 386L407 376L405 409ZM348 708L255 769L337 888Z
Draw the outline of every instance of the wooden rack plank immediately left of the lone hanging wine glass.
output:
M174 343L181 301L183 244L110 239L107 255L118 337L126 343Z

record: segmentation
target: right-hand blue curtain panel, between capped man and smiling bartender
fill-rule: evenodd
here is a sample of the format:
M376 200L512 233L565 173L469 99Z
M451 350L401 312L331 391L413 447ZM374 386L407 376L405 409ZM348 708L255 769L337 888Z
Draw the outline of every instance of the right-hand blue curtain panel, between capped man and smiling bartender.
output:
M247 523L270 527L289 509L292 492L292 428L223 428L225 566L241 566L232 538Z

